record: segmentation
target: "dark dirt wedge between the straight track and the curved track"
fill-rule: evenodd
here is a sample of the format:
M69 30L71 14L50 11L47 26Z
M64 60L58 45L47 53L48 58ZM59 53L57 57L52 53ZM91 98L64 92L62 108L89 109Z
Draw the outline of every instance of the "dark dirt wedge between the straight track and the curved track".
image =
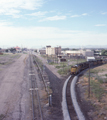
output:
M45 65L45 72L48 75L50 88L52 89L52 107L47 107L49 114L46 120L63 120L61 102L62 88L66 78L59 75L57 69L53 65L49 65L46 59L38 54L36 54L36 56L42 60L42 63Z

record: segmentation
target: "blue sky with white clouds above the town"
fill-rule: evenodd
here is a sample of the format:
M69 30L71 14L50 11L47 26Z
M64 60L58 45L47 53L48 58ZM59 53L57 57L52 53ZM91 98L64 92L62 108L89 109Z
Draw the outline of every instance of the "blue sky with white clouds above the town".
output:
M107 45L107 0L0 0L0 47Z

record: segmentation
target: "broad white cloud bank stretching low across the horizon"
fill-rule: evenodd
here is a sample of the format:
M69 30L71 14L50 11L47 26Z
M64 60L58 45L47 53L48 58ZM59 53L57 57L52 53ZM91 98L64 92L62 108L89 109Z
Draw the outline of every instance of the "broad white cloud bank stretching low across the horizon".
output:
M1 26L0 46L46 46L46 45L93 45L107 44L107 33L62 30L55 27L9 27ZM103 40L103 43L102 43Z

